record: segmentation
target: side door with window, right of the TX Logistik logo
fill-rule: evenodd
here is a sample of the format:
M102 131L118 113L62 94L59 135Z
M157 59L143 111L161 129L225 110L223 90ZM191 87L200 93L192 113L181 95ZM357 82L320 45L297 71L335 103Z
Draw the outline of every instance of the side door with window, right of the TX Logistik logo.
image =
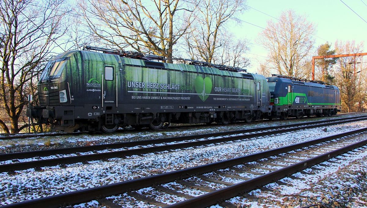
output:
M116 106L116 66L103 64L102 71L102 107L112 110Z

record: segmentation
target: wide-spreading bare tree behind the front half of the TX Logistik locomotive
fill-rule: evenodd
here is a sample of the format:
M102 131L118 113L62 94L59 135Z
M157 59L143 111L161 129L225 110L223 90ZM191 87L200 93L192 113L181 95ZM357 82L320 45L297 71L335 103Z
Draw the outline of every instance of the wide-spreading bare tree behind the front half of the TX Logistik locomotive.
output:
M193 10L179 0L86 0L79 7L97 40L167 58L188 32Z

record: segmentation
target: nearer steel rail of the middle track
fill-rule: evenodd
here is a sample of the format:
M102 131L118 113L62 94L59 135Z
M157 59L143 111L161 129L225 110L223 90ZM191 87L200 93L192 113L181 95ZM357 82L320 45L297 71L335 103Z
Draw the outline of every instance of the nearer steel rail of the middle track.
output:
M359 118L359 119L355 119L352 121L365 120L365 119L367 118ZM107 159L107 158L125 157L125 156L138 155L138 154L148 154L152 152L163 152L167 150L208 145L208 144L220 143L220 142L236 141L240 139L248 139L248 138L253 138L257 136L281 134L281 133L286 133L286 132L296 131L296 130L301 130L301 129L324 127L327 125L348 123L352 121L350 120L338 121L338 122L332 122L332 123L324 123L324 124L279 129L275 131L259 132L259 133L254 133L254 134L230 136L230 137L216 138L216 139L206 139L206 140L194 141L194 142L177 143L177 144L172 144L172 145L153 146L153 147L137 148L137 149L130 149L130 150L120 150L120 151L115 151L115 152L86 154L86 155L80 155L80 156L60 157L60 158L52 158L52 159L46 159L46 160L35 160L35 161L27 161L27 162L21 162L21 163L3 164L3 165L0 165L0 172L11 172L11 171L18 171L18 170L24 170L24 169L29 169L29 168L40 168L40 167L55 166L55 165L74 164L74 163L80 163L80 162L86 162L86 161L102 160L102 159ZM224 133L224 132L221 132L221 133Z

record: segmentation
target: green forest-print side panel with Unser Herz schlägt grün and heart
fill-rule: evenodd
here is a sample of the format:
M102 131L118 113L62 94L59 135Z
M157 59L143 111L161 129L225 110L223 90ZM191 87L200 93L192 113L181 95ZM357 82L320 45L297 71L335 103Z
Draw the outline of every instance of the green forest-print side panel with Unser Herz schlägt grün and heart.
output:
M139 60L138 60L139 61ZM195 67L195 66L192 66ZM197 103L216 103L223 101L250 101L253 99L254 86L250 79L216 76L215 74L197 75L172 70L148 69L134 66L125 67L124 84L132 104L136 99L150 99L158 103L160 99L194 100ZM174 102L174 101L172 101ZM230 103L230 102L229 102Z

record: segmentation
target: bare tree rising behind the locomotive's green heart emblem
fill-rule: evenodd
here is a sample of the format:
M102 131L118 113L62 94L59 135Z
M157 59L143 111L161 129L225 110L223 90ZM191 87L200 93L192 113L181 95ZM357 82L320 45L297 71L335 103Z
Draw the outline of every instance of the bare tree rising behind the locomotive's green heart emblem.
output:
M226 44L235 42L232 34L225 29L227 23L232 20L240 23L235 17L247 9L246 0L191 0L191 3L197 6L197 10L196 21L190 24L191 32L185 36L187 54L196 60L221 62L219 57L229 49Z

